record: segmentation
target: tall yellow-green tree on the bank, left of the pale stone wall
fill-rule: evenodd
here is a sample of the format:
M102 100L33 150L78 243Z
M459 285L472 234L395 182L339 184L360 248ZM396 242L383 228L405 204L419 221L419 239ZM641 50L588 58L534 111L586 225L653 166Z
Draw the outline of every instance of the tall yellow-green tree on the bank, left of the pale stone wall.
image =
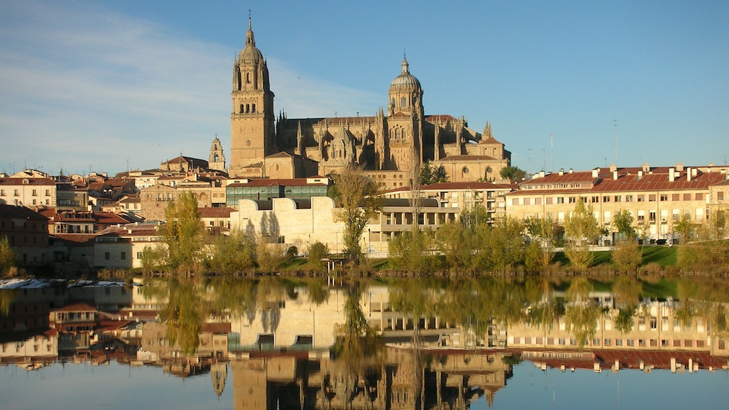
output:
M168 201L166 223L162 228L171 268L191 273L200 261L203 228L198 212L198 200L187 191L177 202Z

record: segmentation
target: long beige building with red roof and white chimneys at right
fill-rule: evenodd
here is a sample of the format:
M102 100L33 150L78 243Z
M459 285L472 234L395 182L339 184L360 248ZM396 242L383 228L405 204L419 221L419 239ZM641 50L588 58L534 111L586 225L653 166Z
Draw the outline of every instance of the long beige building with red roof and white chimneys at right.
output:
M542 217L564 223L582 198L592 206L599 225L615 232L612 218L627 210L634 217L636 231L651 241L674 238L674 224L683 215L694 223L710 217L712 186L727 179L725 169L712 167L596 168L592 171L564 171L537 174L522 182L519 190L507 193L507 215L517 218ZM721 185L720 185L721 186ZM722 189L715 190L718 198ZM723 198L723 196L722 196Z

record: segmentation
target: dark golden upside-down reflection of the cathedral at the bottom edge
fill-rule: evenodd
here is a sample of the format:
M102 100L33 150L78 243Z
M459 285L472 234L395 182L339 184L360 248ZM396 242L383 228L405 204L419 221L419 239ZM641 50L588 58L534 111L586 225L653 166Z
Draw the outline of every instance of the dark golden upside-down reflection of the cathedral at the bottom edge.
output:
M424 356L428 356L427 362ZM378 361L292 353L231 361L235 409L467 409L493 403L512 376L500 352L444 353L385 349Z

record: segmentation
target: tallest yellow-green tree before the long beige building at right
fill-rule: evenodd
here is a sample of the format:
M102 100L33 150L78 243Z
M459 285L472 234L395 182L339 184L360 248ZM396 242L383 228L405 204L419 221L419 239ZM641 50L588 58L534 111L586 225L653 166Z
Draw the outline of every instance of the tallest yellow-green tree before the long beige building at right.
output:
M588 268L593 260L590 244L594 243L600 228L592 206L585 206L582 198L577 201L572 214L566 218L564 233L567 240L564 253L569 262L580 270Z

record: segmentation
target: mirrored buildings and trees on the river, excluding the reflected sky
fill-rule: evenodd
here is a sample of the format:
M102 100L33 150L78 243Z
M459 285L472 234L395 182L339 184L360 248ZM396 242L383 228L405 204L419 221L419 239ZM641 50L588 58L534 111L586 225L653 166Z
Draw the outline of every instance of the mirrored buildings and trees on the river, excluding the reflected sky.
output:
M209 373L216 395L232 383L238 409L464 409L493 403L520 360L680 373L729 359L729 282L719 279L0 286L0 363Z

